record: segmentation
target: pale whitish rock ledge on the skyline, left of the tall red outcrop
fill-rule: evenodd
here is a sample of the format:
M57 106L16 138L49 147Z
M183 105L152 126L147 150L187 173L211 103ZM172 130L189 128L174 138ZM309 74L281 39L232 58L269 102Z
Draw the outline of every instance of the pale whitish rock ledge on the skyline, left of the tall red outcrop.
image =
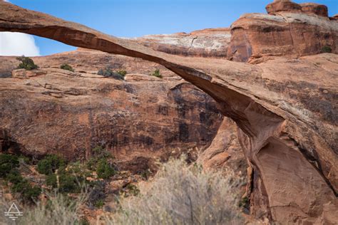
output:
M208 28L191 33L148 35L131 40L174 55L226 58L230 37L230 28Z

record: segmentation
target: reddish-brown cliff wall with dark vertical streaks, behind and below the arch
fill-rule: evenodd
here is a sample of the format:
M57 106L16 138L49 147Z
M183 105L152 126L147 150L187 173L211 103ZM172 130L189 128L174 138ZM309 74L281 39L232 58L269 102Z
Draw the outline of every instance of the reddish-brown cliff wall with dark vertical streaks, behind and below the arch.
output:
M215 102L198 88L164 68L165 78L150 77L148 70L160 68L155 63L94 51L34 61L39 70L27 71L26 77L14 70L14 78L1 79L2 150L83 160L101 145L121 167L133 162L137 167L128 169L137 172L174 150L210 145L222 121ZM3 63L15 67L17 61L1 57ZM82 73L43 68L62 63ZM126 81L86 72L106 65L128 70Z

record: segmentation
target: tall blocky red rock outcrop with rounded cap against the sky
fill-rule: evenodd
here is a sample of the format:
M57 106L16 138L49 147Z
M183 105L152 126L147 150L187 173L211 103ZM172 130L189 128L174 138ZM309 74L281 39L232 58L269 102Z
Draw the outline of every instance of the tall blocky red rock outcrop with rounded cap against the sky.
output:
M262 56L308 56L338 53L338 22L327 7L275 1L269 14L245 14L231 26L227 57L246 62Z

